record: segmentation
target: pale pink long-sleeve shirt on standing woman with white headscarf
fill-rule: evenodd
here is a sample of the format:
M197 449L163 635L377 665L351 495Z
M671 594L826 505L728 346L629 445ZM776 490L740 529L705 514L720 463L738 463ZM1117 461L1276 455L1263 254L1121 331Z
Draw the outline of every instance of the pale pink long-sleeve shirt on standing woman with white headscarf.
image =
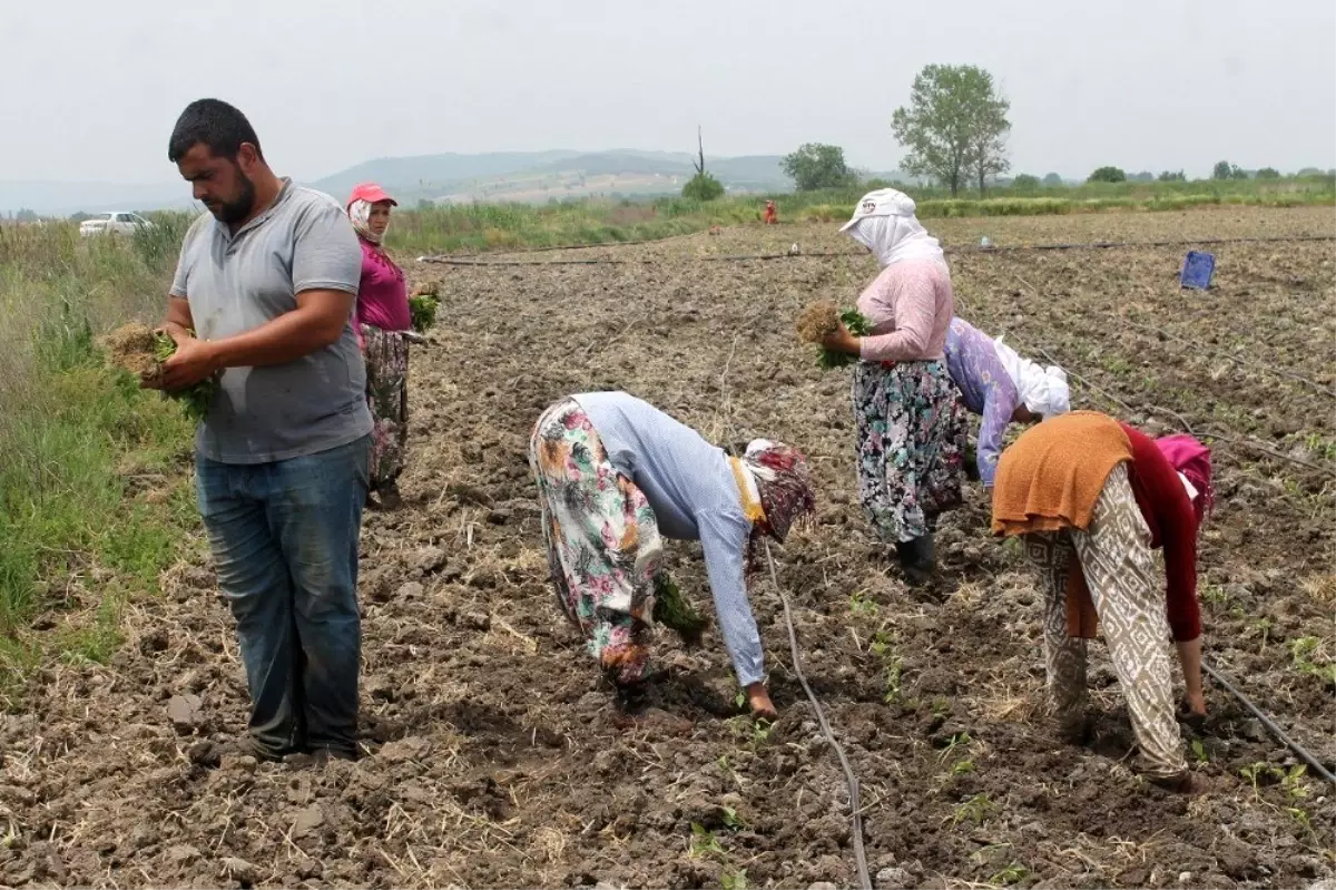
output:
M859 357L868 362L934 361L946 354L955 314L951 274L935 259L891 263L858 298L872 322Z

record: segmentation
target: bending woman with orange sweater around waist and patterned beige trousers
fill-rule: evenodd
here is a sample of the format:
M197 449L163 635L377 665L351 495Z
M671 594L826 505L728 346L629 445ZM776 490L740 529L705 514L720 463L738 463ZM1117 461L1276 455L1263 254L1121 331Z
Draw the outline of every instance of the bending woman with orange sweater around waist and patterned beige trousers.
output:
M1210 452L1189 436L1154 441L1097 412L1027 429L1002 453L993 532L1023 536L1046 589L1043 649L1059 734L1083 742L1086 640L1098 624L1128 699L1146 774L1194 790L1174 719L1168 643L1186 715L1202 718L1197 532L1213 496ZM1164 548L1168 585L1154 579Z

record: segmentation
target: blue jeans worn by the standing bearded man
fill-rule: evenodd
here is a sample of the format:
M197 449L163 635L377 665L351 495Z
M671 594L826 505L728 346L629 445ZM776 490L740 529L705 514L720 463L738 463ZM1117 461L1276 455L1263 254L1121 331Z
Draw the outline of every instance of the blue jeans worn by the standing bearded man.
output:
M270 464L196 460L199 512L250 684L250 734L271 756L357 754L370 441Z

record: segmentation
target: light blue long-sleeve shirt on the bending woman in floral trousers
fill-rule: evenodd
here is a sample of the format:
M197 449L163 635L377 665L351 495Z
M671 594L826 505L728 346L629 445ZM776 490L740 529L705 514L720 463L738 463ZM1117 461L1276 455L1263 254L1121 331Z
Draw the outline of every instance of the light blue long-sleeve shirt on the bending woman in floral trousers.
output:
M644 493L664 537L700 541L719 632L743 686L766 679L760 632L747 601L747 543L728 456L696 430L627 393L573 397L599 432L608 460Z

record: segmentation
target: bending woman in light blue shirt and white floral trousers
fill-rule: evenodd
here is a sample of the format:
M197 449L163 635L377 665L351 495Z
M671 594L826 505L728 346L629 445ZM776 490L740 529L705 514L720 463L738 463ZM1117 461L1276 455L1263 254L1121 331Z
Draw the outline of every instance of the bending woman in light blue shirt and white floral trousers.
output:
M529 464L561 609L623 700L645 688L656 597L673 593L663 539L699 540L737 682L752 714L774 718L747 571L763 536L783 541L815 508L803 454L756 440L731 457L648 402L587 393L542 414Z

